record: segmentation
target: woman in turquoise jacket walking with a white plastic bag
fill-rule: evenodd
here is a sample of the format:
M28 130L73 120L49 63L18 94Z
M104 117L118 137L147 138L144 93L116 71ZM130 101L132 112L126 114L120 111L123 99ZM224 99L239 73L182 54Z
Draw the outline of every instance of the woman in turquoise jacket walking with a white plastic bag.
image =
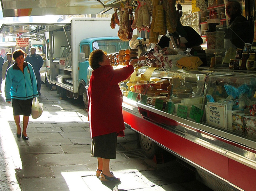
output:
M17 137L21 136L20 115L23 115L22 138L28 140L26 129L31 114L34 97L38 97L37 81L30 63L24 61L25 52L17 49L13 52L15 63L8 68L5 79L6 102L12 102Z

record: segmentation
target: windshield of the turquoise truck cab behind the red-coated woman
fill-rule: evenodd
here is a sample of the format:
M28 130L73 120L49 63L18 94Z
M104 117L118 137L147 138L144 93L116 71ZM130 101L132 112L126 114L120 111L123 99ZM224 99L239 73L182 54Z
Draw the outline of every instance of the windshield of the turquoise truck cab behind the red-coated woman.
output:
M101 49L107 54L118 52L122 49L130 49L129 41L121 40L98 40L93 42L93 50Z

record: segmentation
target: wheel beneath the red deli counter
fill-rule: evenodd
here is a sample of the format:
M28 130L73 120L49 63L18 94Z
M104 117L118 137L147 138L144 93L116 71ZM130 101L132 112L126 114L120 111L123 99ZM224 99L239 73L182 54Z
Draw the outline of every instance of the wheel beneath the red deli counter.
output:
M158 150L157 144L148 137L141 134L139 134L139 143L145 156L150 159L154 158Z

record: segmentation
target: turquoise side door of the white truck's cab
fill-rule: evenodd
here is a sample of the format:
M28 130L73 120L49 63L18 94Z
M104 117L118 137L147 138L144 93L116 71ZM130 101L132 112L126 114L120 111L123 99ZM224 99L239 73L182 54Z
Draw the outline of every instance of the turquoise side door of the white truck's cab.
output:
M85 57L89 59L90 55L90 44L89 43L82 43L80 45L80 53L85 53ZM89 67L88 60L79 63L79 81L83 80L86 84L88 84L87 80L87 68Z

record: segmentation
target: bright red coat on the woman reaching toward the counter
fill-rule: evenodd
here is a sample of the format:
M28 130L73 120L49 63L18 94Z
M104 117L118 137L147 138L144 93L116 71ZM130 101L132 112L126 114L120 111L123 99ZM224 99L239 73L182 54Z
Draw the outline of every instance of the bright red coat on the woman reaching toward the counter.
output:
M133 73L133 66L114 70L101 66L92 71L88 88L91 137L118 132L124 136L123 95L118 83Z

